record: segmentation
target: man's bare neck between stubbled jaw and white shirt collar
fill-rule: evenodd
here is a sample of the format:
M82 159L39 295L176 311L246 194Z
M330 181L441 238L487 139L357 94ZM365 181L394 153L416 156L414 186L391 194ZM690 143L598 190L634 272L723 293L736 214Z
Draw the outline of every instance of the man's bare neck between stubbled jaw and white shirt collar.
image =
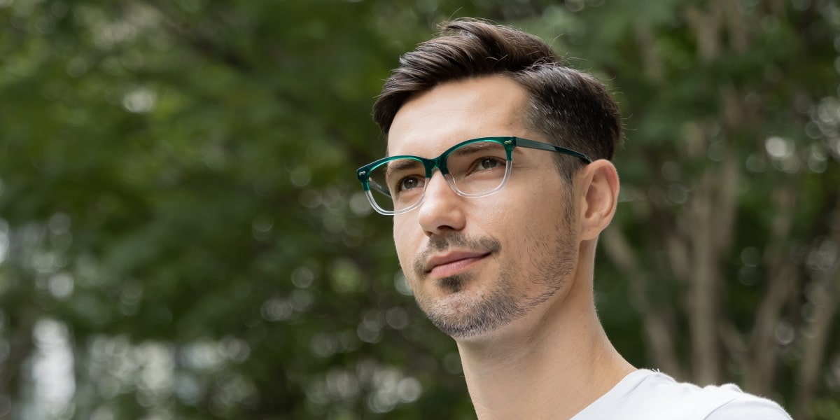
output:
M575 273L564 296L533 309L516 328L459 340L481 420L571 418L635 370L606 338L591 279L591 270Z

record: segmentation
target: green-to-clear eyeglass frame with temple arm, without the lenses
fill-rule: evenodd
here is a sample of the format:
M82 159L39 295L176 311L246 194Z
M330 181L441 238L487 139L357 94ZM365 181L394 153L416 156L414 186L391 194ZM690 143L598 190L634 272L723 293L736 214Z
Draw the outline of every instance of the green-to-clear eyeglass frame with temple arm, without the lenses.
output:
M505 151L507 152L508 171L505 174L505 180L502 181L501 184L498 187L496 187L496 189L494 189L490 192L485 192L485 193L481 193L481 194L464 194L462 192L459 192L453 185L450 184L450 186L453 187L454 192L458 193L459 195L461 195L463 197L486 197L486 196L489 196L489 195L501 190L501 187L504 186L507 183L507 177L510 176L509 165L510 165L510 162L512 161L513 150L517 147L522 147L522 148L527 148L527 149L536 149L536 150L546 150L546 151L555 152L555 153L562 153L564 155L575 156L576 158L578 158L580 160L583 160L586 164L592 163L592 160L589 158L589 156L584 155L584 154L582 154L580 152L577 152L575 150L570 150L570 149L566 149L564 147L555 146L554 144L543 143L541 141L536 141L536 140L522 139L522 138L519 138L519 137L481 137L481 138L478 138L478 139L465 140L465 141L460 142L459 144L455 144L454 146L452 146L449 149L447 149L446 151L444 151L444 153L440 154L438 157L433 158L433 159L427 159L427 158L423 158L423 157L420 157L420 156L414 156L414 155L396 155L396 156L388 156L388 157L382 158L380 160L375 160L374 162L371 162L368 165L364 165L364 166L360 167L358 170L356 170L356 176L359 178L359 181L362 183L362 189L365 190L365 194L368 197L368 201L370 202L370 205L372 207L374 207L374 209L376 210L377 213L381 213L381 214L384 214L384 215L406 213L406 212L409 212L409 211L413 210L414 208L417 208L421 203L423 203L423 198L420 199L417 203L413 204L412 206L402 208L402 209L399 209L399 210L395 210L395 211L386 210L386 209L383 209L383 208L379 207L376 204L375 199L370 192L370 173L371 173L371 171L375 170L377 167L379 167L381 165L386 165L391 160L412 159L412 160L417 160L418 162L421 162L423 164L423 167L426 170L426 178L427 179L432 177L432 172L434 171L435 168L438 168L438 170L440 170L441 174L444 175L444 177L445 177L445 176L449 175L449 168L446 167L446 160L449 157L449 154L451 154L454 150L458 150L460 147L464 146L465 144L477 143L477 142L480 142L480 141L496 142L496 143L499 143L502 146L504 146ZM383 188L380 187L380 188L376 188L376 191L381 192L382 194L385 194L388 197L391 196L391 192L389 192L387 189L383 189ZM423 195L423 197L425 197L425 194Z

